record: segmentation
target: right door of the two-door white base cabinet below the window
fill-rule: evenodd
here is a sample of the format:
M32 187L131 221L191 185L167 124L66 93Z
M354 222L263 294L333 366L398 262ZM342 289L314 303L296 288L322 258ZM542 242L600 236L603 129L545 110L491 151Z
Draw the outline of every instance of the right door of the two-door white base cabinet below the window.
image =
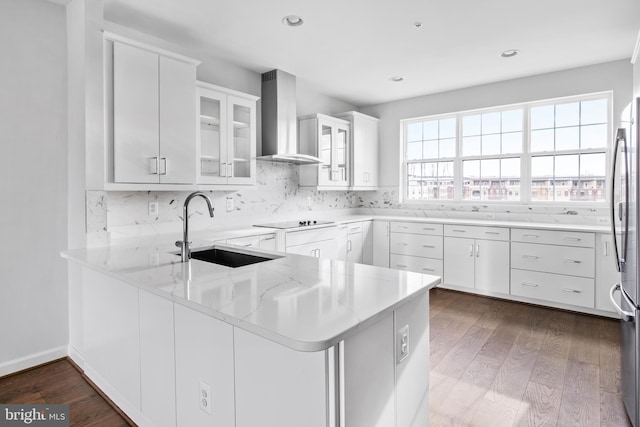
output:
M509 294L509 242L476 240L476 289Z

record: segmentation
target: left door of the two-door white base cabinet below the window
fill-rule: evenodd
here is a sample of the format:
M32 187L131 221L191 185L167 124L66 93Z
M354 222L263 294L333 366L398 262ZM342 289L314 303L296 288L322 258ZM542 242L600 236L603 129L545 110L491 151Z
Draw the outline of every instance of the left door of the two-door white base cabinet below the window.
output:
M444 284L474 288L474 239L444 238Z

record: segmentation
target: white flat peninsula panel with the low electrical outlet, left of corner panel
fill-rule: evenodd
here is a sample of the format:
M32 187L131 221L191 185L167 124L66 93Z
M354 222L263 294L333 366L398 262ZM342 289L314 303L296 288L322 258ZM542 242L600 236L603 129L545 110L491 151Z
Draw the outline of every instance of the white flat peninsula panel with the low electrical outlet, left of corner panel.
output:
M178 425L233 426L233 327L180 304L174 310ZM202 384L210 412L200 407Z

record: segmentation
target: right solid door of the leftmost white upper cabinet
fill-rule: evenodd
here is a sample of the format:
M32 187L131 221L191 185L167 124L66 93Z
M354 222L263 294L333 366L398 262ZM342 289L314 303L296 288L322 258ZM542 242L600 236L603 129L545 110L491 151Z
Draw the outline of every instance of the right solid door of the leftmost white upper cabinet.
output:
M195 182L196 67L159 57L160 64L160 182Z

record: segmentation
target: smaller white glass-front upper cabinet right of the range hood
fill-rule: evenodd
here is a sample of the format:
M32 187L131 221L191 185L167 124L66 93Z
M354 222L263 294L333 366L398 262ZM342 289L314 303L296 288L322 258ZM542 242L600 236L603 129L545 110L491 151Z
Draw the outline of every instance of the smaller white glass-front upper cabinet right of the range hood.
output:
M323 189L349 187L350 125L324 114L300 117L300 153L319 157L323 164L301 165L300 186Z

